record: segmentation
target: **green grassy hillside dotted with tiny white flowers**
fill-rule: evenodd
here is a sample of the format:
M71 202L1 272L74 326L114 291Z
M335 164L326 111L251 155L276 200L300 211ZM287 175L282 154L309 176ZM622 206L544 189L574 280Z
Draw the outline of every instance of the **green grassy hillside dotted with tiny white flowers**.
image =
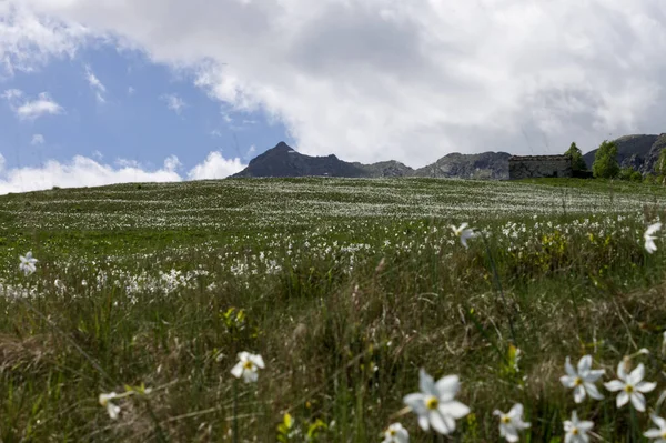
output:
M374 442L418 370L457 374L453 441L564 441L573 410L638 441L666 389L666 190L581 180L253 179L0 197L2 442ZM450 225L470 223L464 248ZM37 271L19 271L32 251ZM616 377L639 349L648 412L575 404L564 362ZM519 350L516 358L516 350ZM259 353L258 383L230 373ZM150 387L124 394L125 385ZM112 420L98 402L114 400ZM654 426L652 426L654 427ZM309 439L309 440L307 440ZM559 439L559 440L558 440Z

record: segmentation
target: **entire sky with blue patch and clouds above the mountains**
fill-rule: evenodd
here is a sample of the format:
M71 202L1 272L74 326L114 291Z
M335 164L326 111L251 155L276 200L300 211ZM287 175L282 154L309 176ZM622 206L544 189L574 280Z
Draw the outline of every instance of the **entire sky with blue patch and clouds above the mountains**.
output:
M0 0L0 194L666 132L663 0Z

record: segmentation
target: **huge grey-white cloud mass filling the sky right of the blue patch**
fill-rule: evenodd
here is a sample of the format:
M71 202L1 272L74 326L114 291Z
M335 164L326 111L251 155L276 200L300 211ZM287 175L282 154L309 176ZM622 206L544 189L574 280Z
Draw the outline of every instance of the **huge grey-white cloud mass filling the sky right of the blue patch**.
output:
M418 167L664 132L662 0L19 1L192 68L304 153Z

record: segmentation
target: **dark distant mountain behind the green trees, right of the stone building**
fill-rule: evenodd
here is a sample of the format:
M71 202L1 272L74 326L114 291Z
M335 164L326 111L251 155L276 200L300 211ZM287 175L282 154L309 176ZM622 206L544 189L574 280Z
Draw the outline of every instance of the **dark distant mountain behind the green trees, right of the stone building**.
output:
M659 152L666 145L666 134L624 135L613 140L617 144L617 161L620 167L632 167L643 173L653 172ZM592 169L596 149L583 155L588 169Z

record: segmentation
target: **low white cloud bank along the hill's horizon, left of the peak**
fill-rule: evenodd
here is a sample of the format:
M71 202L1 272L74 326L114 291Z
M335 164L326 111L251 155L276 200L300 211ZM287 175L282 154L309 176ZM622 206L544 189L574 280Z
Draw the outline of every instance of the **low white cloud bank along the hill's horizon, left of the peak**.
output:
M220 152L211 152L208 158L192 168L185 175L176 170L181 162L175 155L164 159L162 168L148 169L133 160L119 159L115 165L100 160L75 155L69 162L48 160L42 167L4 168L0 154L0 194L60 188L99 187L129 182L175 182L182 180L223 179L242 170L245 165L239 159L226 160Z

